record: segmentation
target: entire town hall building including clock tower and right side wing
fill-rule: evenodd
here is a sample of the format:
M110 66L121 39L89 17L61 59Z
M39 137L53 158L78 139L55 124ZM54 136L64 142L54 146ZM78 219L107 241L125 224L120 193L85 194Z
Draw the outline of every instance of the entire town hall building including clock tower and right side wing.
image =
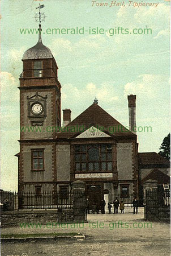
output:
M58 65L42 43L41 25L37 44L24 52L22 61L19 192L66 193L73 181L81 180L96 201L106 193L139 198L148 178L168 183L169 161L156 152L138 153L135 95L127 97L129 129L102 109L96 98L72 121L71 110L64 109L62 120ZM22 127L42 130L22 131Z

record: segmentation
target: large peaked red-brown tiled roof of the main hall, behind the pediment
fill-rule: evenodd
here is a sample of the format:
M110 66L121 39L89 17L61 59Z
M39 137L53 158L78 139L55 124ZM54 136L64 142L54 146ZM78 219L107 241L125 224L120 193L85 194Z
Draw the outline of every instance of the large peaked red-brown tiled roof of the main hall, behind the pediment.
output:
M80 126L84 127L84 131L91 126L95 126L97 129L100 126L103 126L104 130L102 131L111 136L136 136L134 133L131 133L131 131L127 131L121 123L105 112L105 110L98 104L93 103L88 109L78 115L78 117L66 126L66 130L68 130L67 133L66 131L63 133L57 133L57 138L69 138L75 137L77 134L79 135L80 133L78 133L78 131L73 132L73 127Z

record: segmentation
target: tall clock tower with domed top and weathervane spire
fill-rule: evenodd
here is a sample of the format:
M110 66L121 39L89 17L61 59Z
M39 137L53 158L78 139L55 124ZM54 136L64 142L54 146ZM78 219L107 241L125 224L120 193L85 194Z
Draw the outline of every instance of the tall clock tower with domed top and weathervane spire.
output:
M57 63L42 43L41 31L40 20L39 40L24 52L19 78L19 192L55 191L57 180L55 135L61 126L61 84Z

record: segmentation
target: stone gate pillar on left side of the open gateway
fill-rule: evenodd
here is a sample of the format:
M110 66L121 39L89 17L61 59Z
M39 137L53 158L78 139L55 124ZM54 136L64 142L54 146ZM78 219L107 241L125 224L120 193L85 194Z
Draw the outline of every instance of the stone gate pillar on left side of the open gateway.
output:
M76 180L71 184L74 221L87 220L86 183Z

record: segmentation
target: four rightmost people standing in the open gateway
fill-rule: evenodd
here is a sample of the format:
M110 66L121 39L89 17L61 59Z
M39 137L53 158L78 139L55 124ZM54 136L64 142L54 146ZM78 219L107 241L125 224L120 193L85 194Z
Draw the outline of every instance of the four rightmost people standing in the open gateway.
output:
M134 208L134 213L133 214L135 214L135 211L136 211L136 213L138 213L138 200L136 198L132 201L132 205L133 205L133 208ZM121 213L124 213L125 207L124 207L123 200L121 200L121 202L119 203L119 200L116 197L116 199L114 199L114 201L113 201L113 207L114 207L114 213L118 213L118 207L121 210ZM112 208L112 204L108 203L109 213L112 213L111 208Z

